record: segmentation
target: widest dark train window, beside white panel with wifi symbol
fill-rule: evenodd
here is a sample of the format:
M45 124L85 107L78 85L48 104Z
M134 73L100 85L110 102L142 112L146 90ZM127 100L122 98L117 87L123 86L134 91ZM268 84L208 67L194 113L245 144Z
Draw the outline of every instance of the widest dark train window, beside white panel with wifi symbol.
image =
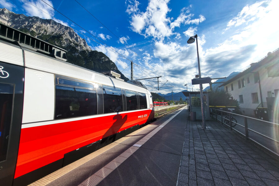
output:
M97 114L97 95L92 89L55 86L55 119Z

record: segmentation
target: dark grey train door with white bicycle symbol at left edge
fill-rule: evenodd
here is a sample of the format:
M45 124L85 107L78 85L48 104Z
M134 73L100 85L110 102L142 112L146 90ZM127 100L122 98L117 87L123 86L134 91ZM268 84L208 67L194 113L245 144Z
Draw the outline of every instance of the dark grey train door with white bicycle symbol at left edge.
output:
M24 68L0 62L0 185L10 186L18 153Z

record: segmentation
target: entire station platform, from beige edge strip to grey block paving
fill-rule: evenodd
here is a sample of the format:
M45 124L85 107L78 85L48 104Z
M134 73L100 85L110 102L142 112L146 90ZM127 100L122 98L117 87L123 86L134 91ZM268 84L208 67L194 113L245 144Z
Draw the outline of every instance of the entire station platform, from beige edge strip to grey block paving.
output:
M180 108L30 185L279 185L277 159L206 125Z

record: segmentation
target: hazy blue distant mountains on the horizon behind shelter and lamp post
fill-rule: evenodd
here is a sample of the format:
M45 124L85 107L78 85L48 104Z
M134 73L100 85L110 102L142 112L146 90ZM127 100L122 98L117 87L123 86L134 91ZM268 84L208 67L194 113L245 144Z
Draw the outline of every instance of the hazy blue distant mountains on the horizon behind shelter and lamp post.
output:
M218 79L216 82L226 82L228 81L229 79L235 77L237 74L239 74L239 72L232 72L226 79ZM217 84L212 84L212 89L220 89L220 90L224 90L224 86L221 86L221 87L218 87L222 85L222 83L217 83ZM205 89L203 89L203 91L207 91L210 89L210 86L207 86ZM171 95L171 92L170 93L167 93L167 94L161 94L161 93L158 93L158 95L166 98L166 100L172 100L172 96L173 96L173 100L174 101L179 101L180 100L180 97L182 98L182 100L185 100L186 99L186 96L184 96L184 94L182 92L186 92L187 90L184 90L184 91L180 91L178 93L175 93L173 92L172 95Z

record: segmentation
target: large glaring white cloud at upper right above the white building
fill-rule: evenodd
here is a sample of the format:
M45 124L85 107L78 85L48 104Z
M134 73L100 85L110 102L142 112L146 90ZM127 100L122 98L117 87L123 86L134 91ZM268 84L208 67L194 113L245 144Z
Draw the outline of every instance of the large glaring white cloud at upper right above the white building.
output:
M255 51L249 59L242 61L241 68L246 68L250 63L263 58L269 51L278 48L279 27L274 18L279 17L279 1L261 1L246 5L234 18L227 23L226 34L230 34L219 46L244 47L255 45ZM261 39L259 39L261 38Z

